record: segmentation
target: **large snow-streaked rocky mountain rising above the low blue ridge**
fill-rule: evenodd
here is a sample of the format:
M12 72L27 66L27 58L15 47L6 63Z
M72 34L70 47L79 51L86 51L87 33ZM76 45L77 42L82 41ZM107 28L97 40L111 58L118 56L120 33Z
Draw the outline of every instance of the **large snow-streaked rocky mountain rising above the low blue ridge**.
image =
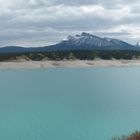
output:
M83 32L81 35L68 36L66 40L48 47L52 50L140 50L118 39L101 38Z

